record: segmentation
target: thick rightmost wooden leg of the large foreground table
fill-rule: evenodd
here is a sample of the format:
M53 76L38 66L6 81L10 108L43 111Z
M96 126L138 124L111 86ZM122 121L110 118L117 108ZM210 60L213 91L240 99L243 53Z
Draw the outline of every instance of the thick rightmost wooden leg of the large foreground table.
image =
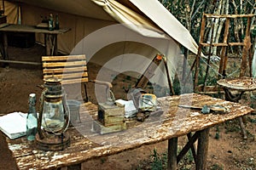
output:
M195 169L196 170L205 170L207 169L207 153L208 153L208 144L209 144L209 130L206 128L200 131L198 146L197 146L197 160Z

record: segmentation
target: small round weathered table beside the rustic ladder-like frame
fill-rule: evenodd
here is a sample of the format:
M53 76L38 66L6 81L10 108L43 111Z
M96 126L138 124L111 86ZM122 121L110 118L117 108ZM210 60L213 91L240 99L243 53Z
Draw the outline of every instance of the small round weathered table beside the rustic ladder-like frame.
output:
M239 102L241 95L247 91L256 90L256 78L237 77L218 80L218 85L224 88L225 99L232 102ZM231 90L238 91L238 94L232 94ZM247 132L242 121L242 116L238 117L241 133L244 139L247 139Z

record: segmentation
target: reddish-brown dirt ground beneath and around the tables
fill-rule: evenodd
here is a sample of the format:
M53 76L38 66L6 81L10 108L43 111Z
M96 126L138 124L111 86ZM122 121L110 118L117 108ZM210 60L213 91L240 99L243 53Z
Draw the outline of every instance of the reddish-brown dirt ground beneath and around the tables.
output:
M9 48L9 58L40 62L44 55L44 48L36 45L32 48ZM96 65L89 64L90 77L96 77ZM119 81L113 84L116 98L125 93L124 83ZM41 94L37 85L43 84L41 66L9 65L9 68L0 68L0 116L14 111L26 112L27 99L31 93ZM126 84L128 86L128 84ZM89 87L92 89L92 87ZM92 93L89 90L89 95ZM93 94L91 94L93 96ZM92 99L93 97L91 97ZM255 104L255 100L248 103L246 99L241 101L244 105ZM37 105L38 108L38 105ZM249 138L241 138L241 131L236 120L212 127L210 131L210 143L207 156L207 169L256 169L256 116L247 116L247 132ZM0 169L16 169L15 161L5 142L5 135L0 133ZM187 139L182 137L178 144L182 146ZM84 162L83 169L150 169L149 156L153 150L161 154L167 150L167 141L159 144L143 146L136 150L122 152L115 156ZM187 156L187 159L188 156ZM144 166L143 166L144 165ZM179 169L195 169L193 161L183 160Z

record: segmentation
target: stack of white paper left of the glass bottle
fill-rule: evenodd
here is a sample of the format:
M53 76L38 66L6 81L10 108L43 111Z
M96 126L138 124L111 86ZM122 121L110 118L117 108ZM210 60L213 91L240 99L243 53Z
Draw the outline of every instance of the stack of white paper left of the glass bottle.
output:
M0 116L0 130L9 139L16 139L26 135L26 113L14 112Z

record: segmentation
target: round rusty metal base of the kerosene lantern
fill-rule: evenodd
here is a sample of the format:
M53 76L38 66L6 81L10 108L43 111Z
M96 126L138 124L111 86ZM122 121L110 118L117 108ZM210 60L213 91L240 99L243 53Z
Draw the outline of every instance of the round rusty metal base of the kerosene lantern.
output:
M44 133L44 139L40 139L38 133L36 134L36 147L39 150L64 150L70 144L70 137L64 133L63 136Z

